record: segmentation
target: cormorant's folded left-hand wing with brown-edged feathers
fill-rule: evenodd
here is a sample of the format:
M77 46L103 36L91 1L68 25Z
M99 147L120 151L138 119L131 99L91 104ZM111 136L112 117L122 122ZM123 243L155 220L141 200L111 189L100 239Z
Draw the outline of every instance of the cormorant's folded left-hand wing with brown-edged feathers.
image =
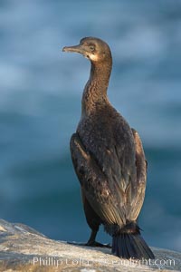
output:
M124 196L120 196L117 182L111 183L110 186L108 177L86 151L77 133L71 136L71 159L86 199L100 219L110 225L125 225L125 208L120 207L123 203L120 199Z

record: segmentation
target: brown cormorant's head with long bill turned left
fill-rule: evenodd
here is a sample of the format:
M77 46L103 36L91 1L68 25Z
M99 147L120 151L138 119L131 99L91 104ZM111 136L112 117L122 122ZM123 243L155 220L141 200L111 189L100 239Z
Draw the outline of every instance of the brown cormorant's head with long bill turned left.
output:
M80 44L65 46L62 48L62 51L81 53L84 57L90 59L92 63L101 63L111 59L109 45L94 37L83 38L81 39Z

